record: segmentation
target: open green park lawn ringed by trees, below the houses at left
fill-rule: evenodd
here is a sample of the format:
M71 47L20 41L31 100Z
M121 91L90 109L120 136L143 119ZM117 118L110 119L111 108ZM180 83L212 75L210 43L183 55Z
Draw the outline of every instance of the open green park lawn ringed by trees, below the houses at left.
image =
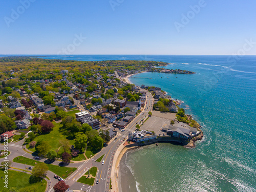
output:
M53 130L49 134L45 135L39 135L34 139L34 141L38 141L39 139L46 140L50 146L51 149L54 151L57 151L60 147L59 140L66 139L67 136L63 135L59 128L62 126L60 123L52 122L55 126L53 127ZM74 140L69 140L70 145L74 144ZM29 148L29 144L27 144L27 148ZM35 152L35 148L29 148L30 151Z

